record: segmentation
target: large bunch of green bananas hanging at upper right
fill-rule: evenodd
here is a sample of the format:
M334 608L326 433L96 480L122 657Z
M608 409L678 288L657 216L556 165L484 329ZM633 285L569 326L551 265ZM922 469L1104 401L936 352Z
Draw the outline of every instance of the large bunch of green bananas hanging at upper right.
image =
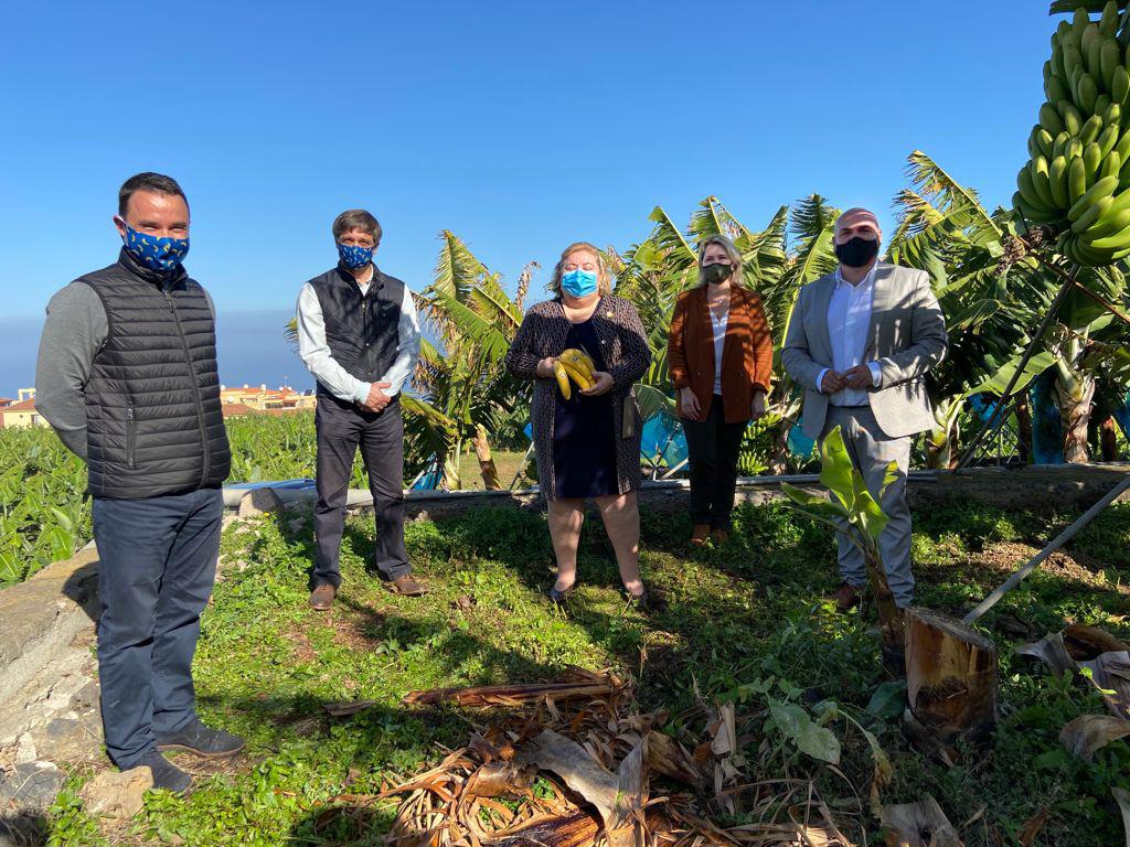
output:
M1118 3L1061 21L1044 62L1040 123L1017 176L1017 212L1059 232L1060 254L1086 267L1130 255L1130 29Z

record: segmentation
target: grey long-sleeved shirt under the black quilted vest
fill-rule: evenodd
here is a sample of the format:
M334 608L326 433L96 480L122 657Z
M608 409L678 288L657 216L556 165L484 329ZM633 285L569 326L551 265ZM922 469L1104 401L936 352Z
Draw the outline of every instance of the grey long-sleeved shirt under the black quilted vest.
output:
M216 305L208 308L216 317ZM86 282L75 281L55 292L47 304L47 320L35 364L35 410L59 439L86 459L86 383L94 357L106 342L110 321L102 298Z

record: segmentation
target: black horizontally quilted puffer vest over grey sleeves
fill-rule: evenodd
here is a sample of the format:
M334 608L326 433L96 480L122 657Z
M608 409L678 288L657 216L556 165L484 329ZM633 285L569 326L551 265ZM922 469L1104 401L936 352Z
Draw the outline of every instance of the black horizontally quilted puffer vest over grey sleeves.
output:
M82 277L106 309L86 386L94 497L140 499L217 488L232 454L216 370L216 325L183 269L162 278L124 250Z

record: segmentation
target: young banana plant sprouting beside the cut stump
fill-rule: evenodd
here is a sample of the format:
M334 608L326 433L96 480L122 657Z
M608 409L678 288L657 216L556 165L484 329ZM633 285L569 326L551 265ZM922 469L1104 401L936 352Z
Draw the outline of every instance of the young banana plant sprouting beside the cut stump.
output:
M896 665L903 649L903 623L887 583L887 571L879 550L879 536L887 527L888 518L868 491L863 475L852 464L840 427L828 433L820 444L820 483L832 497L810 494L788 482L781 483L781 490L792 501L793 508L814 521L832 526L863 556L879 613L884 661L888 672L894 674L898 671ZM896 479L898 464L890 462L879 489L879 499Z

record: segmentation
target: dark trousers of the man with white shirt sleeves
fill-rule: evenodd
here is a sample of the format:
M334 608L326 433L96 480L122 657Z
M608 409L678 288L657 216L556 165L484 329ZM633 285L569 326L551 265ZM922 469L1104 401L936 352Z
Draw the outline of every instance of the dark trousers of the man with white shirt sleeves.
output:
M358 446L368 472L376 517L376 569L382 579L399 579L411 570L405 550L405 420L400 401L393 400L383 412L376 413L336 398L319 396L314 426L318 430L314 585L341 585L346 494Z

